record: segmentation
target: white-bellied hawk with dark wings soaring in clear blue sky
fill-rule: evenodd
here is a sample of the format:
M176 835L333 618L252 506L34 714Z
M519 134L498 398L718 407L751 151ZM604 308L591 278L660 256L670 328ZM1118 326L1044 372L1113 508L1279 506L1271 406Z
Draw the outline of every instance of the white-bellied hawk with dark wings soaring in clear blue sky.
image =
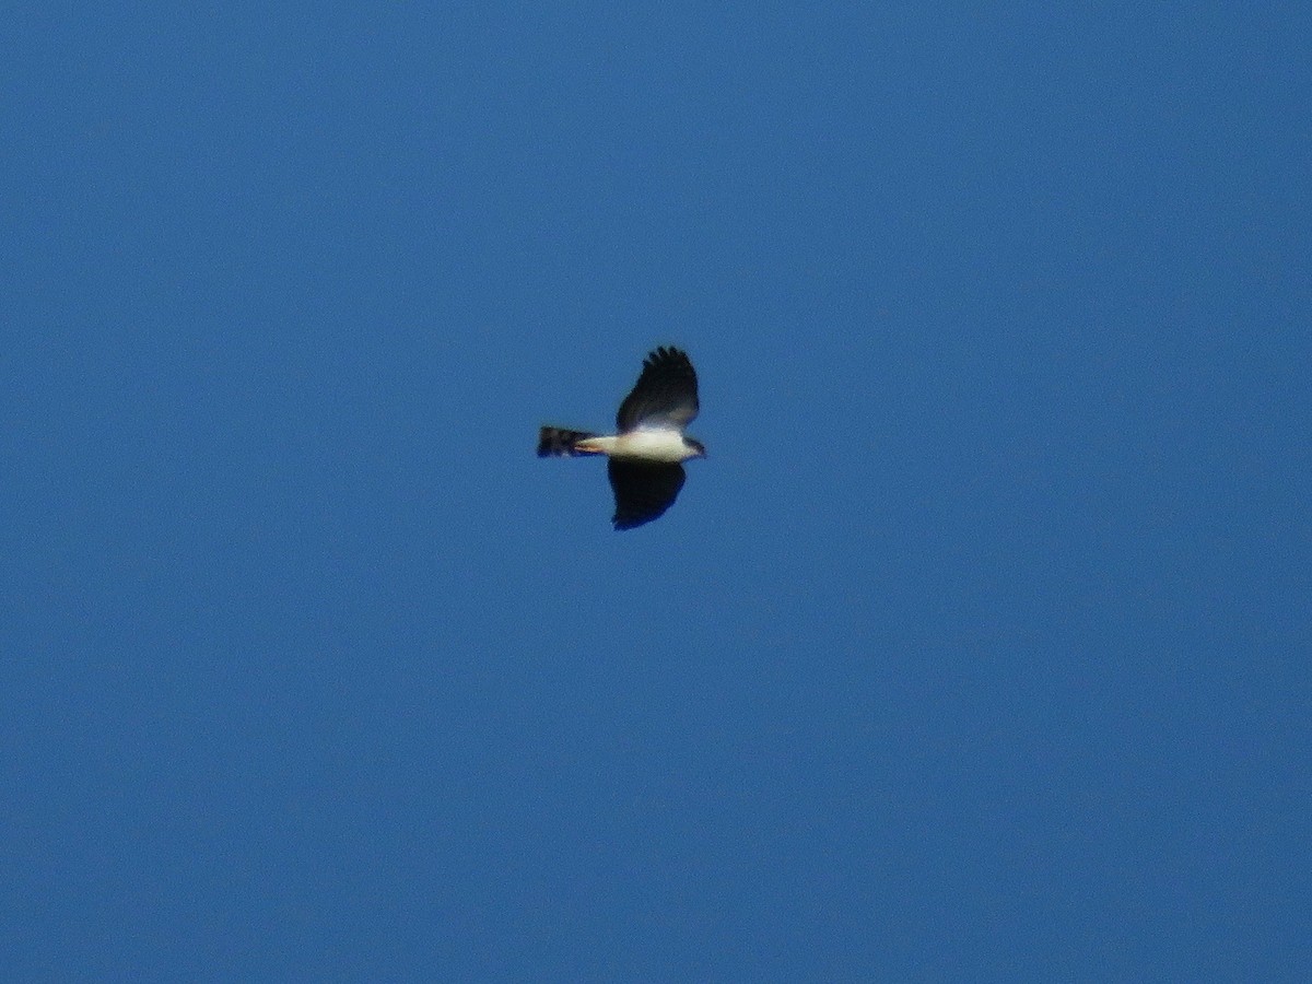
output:
M615 492L611 522L617 530L631 530L674 504L684 487L681 462L706 457L701 441L684 433L695 416L697 373L687 353L659 348L643 361L638 384L619 404L619 433L544 426L538 434L538 457L609 455L606 471Z

